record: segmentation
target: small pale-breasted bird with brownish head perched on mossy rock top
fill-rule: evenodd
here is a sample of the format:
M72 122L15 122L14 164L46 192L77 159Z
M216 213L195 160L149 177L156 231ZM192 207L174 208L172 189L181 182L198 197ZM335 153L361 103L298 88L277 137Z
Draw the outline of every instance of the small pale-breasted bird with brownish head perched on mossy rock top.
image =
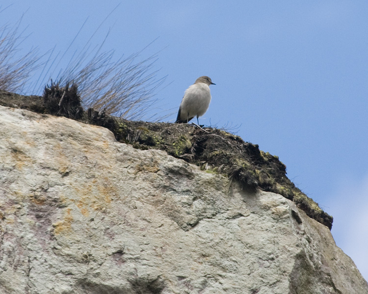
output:
M199 125L198 117L204 115L210 105L210 85L216 84L212 83L210 77L203 75L185 90L175 123L188 123L196 116Z

